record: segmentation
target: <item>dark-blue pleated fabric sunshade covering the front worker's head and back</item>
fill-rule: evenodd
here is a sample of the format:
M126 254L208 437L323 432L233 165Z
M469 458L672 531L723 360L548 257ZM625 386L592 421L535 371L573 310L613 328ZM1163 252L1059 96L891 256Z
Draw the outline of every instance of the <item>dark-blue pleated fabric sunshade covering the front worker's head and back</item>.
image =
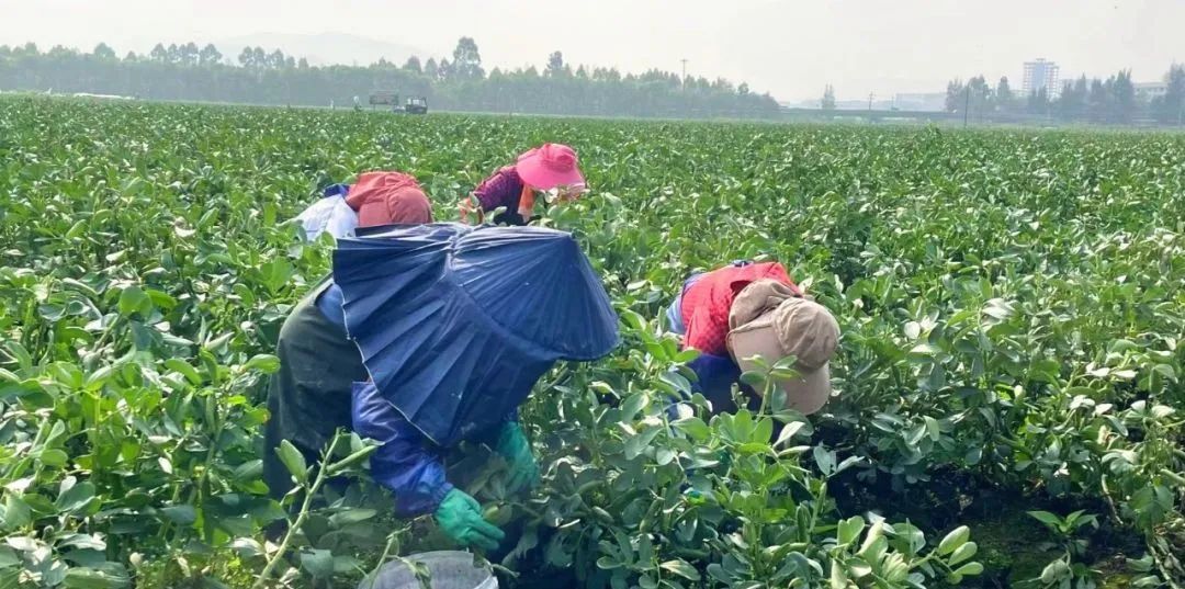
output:
M376 388L442 446L500 423L557 360L619 342L600 277L562 231L378 228L338 242L333 280Z

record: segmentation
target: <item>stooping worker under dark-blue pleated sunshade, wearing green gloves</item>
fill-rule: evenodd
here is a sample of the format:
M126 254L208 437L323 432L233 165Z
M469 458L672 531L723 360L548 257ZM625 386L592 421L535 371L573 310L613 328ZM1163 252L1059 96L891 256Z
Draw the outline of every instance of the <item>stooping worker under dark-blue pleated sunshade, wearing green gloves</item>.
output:
M363 216L365 217L365 216ZM591 360L619 340L591 264L565 232L457 223L359 230L338 242L332 282L293 310L268 398L265 480L292 480L274 449L315 460L338 428L382 446L372 478L395 512L431 513L456 544L493 549L502 531L446 478L462 441L488 444L507 488L539 469L518 406L557 360Z

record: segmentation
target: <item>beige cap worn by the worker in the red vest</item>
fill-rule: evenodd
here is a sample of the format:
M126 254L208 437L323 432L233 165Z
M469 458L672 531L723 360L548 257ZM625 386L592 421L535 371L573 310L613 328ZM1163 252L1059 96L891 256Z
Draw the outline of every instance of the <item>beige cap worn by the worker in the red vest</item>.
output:
M737 297L734 306L744 306ZM742 371L757 369L750 360L761 356L768 364L793 356L799 377L781 380L789 409L813 414L822 409L831 396L831 370L827 363L839 345L839 324L826 307L803 297L788 297L777 307L762 313L729 332L729 351Z

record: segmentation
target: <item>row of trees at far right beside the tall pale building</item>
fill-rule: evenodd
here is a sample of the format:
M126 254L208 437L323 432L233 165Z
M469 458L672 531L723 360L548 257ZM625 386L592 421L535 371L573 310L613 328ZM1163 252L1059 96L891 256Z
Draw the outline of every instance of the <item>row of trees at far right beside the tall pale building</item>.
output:
M984 76L947 84L947 111L991 117L994 113L1027 114L1062 121L1130 124L1154 120L1180 124L1185 117L1185 65L1173 65L1164 76L1162 94L1138 92L1132 71L1107 79L1081 76L1065 82L1055 97L1045 88L1027 96L1013 91L1007 77L992 87Z

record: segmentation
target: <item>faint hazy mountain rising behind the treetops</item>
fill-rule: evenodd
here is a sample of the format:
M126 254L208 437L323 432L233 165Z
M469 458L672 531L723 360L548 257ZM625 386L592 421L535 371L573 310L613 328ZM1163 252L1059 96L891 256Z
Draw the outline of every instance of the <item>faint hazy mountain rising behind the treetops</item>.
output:
M431 53L411 45L397 41L385 41L359 37L350 33L288 34L257 33L232 37L213 41L218 51L231 62L238 60L243 47L263 47L267 52L283 51L286 56L296 59L306 58L312 65L369 65L385 58L387 62L403 64L409 57L417 56L421 60L433 57Z

